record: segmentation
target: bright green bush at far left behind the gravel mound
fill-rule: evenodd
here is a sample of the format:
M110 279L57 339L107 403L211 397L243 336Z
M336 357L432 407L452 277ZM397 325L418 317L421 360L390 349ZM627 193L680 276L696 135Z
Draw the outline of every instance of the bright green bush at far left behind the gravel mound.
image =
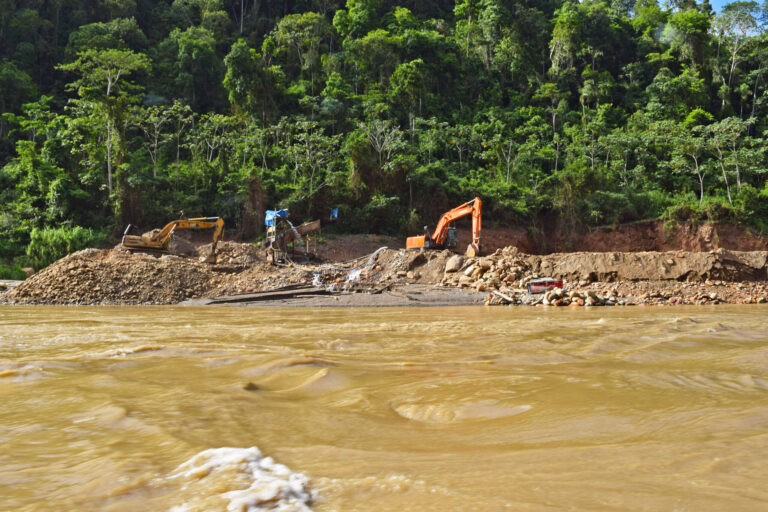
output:
M47 267L75 251L99 245L104 236L80 226L32 229L27 256L35 269Z

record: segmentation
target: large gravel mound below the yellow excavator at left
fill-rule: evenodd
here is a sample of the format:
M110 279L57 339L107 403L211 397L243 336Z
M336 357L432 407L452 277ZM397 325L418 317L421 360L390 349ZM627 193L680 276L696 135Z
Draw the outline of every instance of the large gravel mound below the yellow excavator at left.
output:
M116 250L70 254L3 295L14 304L175 304L205 296L221 276L178 256Z

